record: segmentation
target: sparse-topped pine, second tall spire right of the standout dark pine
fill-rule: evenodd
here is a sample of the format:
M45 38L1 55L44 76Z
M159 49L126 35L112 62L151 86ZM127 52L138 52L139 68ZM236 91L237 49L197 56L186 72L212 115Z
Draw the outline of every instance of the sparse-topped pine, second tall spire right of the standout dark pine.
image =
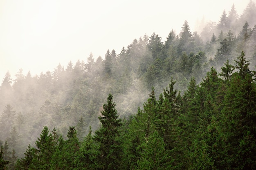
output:
M168 152L169 166L173 168L186 168L187 158L184 155L184 142L181 134L184 133L180 128L180 93L174 90L175 81L171 78L171 83L164 89L163 96L159 96L158 109L155 111L155 118L152 118L156 130L163 138L165 150ZM172 162L172 163L171 163Z

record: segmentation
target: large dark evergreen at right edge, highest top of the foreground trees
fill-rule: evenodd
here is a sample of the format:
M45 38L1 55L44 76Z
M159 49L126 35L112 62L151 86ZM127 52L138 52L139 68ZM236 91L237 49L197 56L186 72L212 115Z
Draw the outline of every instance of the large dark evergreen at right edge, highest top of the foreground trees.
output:
M221 131L226 137L226 169L256 168L256 86L244 52L234 73L221 111Z

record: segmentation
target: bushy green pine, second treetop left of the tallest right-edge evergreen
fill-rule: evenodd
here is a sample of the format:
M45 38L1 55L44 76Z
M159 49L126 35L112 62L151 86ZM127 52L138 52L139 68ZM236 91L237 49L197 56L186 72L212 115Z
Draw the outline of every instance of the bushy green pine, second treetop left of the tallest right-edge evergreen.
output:
M222 80L218 77L218 72L211 68L207 76L200 83L197 90L195 103L198 113L198 124L195 126L195 136L192 137L190 148L192 169L222 169L223 165L220 156L224 144L218 132L218 120L220 119L221 102L219 91L222 87ZM219 97L217 97L219 95ZM220 107L218 107L220 105ZM223 152L222 152L223 153ZM224 163L225 164L225 163Z

